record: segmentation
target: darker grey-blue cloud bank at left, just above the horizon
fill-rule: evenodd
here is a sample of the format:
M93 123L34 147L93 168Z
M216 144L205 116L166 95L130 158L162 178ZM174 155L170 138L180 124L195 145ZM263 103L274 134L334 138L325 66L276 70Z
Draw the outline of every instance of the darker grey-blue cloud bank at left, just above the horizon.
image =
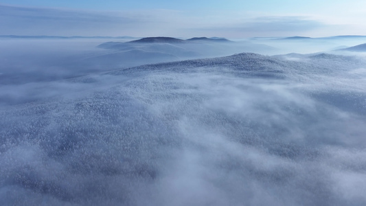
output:
M2 34L119 35L149 27L148 16L0 5ZM140 29L139 29L140 28Z

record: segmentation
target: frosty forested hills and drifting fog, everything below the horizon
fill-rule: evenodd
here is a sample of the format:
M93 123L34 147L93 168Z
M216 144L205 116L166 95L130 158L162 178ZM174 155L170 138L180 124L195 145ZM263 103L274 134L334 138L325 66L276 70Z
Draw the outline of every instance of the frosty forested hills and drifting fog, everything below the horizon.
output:
M365 205L364 43L3 36L0 205Z

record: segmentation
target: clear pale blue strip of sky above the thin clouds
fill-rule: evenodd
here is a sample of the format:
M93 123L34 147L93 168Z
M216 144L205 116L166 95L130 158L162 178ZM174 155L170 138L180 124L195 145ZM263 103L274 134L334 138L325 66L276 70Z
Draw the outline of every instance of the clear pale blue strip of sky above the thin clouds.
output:
M333 5L354 4L362 1L296 1L296 0L186 0L186 1L118 1L118 0L3 0L3 4L9 5L28 5L34 7L53 7L53 8L78 8L91 10L145 10L145 9L168 9L168 10L251 10L260 12L307 12L317 10L317 8L332 7Z

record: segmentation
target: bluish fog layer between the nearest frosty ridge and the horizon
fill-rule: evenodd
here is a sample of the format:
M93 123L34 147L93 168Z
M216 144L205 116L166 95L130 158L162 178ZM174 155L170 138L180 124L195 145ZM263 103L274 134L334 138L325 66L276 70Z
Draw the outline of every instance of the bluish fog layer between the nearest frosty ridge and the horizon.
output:
M229 56L242 52L264 55L332 52L334 49L365 43L366 37L126 43L132 40L135 39L0 38L0 84L48 82L98 71L157 62ZM110 45L108 41L112 41L109 42ZM356 53L352 52L351 55L354 54Z

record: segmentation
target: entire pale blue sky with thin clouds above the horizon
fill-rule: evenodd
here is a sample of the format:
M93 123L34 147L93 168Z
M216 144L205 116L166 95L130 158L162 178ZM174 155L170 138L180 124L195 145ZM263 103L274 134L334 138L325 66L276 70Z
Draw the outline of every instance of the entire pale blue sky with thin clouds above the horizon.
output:
M0 35L366 35L366 1L3 0Z

